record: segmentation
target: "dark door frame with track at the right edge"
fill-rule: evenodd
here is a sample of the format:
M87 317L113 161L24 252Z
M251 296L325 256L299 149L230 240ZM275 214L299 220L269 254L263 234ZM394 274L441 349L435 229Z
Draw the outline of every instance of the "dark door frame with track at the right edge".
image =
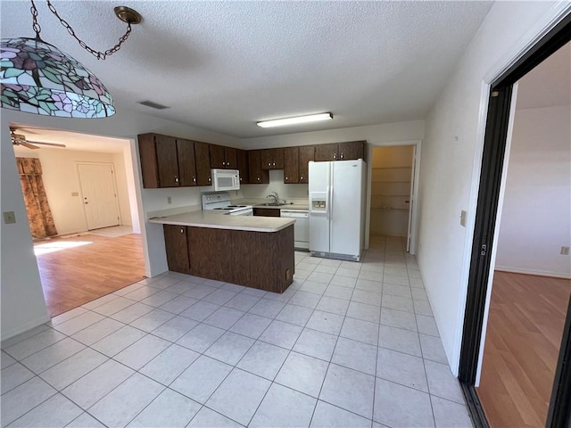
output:
M484 133L484 152L476 222L468 274L468 296L459 358L459 381L478 426L488 426L476 395L476 372L484 328L484 310L492 263L492 243L500 201L513 85L571 40L571 13L532 46L491 85ZM571 300L553 383L546 426L571 426Z

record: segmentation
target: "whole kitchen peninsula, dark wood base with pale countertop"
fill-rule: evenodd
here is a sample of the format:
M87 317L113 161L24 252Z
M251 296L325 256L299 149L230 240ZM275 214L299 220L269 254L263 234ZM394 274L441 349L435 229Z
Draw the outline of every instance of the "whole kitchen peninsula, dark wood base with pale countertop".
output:
M163 225L169 270L284 292L294 276L294 219L193 211Z

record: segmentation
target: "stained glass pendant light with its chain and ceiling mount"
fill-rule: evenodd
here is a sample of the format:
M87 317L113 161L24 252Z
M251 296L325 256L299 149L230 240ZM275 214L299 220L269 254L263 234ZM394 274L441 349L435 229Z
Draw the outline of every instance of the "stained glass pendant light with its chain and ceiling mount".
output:
M5 109L61 118L106 118L115 114L112 96L101 80L79 61L41 39L36 5L33 0L31 4L36 37L8 38L0 43L0 105ZM116 7L115 14L127 22L128 29L117 45L102 53L75 35L50 0L47 4L79 45L99 60L117 52L127 40L131 24L141 21L141 15L136 11L125 6Z

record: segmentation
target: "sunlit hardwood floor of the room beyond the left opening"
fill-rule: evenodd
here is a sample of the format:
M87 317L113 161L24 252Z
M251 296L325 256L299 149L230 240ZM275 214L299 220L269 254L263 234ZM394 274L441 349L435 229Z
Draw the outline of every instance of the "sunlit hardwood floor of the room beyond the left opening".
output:
M141 235L87 234L34 246L50 317L145 278Z

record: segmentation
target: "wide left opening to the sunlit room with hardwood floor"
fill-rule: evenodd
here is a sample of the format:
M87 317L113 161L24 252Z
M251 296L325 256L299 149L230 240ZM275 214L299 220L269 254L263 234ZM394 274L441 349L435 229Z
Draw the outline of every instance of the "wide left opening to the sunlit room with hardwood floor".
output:
M33 141L66 145L14 146L16 157L41 162L57 230L34 243L50 317L145 278L131 142L23 124L18 130Z

